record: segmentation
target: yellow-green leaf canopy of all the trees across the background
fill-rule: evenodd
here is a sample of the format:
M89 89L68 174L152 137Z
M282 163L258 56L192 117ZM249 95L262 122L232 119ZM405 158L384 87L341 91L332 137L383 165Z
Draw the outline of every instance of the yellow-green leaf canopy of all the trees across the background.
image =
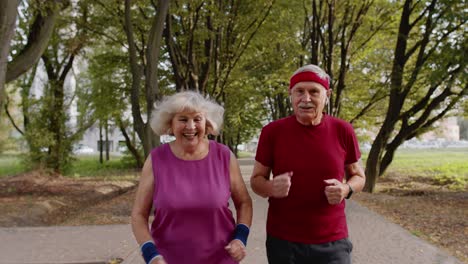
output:
M305 22L306 20L307 22L311 21L311 1L274 1L271 13L265 23L257 32L253 32L256 27L251 24L259 23L255 19L260 17L259 14L263 14L264 7L270 2L269 0L171 2L170 14L174 21L171 24L174 33L172 37L177 43L176 49L182 50L181 57L177 58L180 61L177 63L185 65L179 70L183 72L183 75L194 76L193 80L199 80L200 72L204 70L204 63L212 63L209 68L206 89L203 92L216 98L225 107L223 137L231 147L245 143L258 135L259 129L266 122L291 113L287 89L289 77L298 66L308 63L311 57L310 36L308 35L310 32L307 32L307 23ZM326 5L324 1L316 2ZM336 2L334 34L339 32L346 16L357 14L357 9L354 9L351 14L351 12L345 11L345 7L358 8L362 2L358 0ZM427 2L413 2L415 6L412 21L421 15ZM45 10L46 4L41 3L40 1L21 2L18 13L18 31L12 42L11 55L24 47L32 21L30 18L33 17L36 10ZM356 25L359 24L360 28L349 43L350 50L347 54L349 65L346 65L347 75L345 77L346 89L342 97L340 112L341 118L353 120L356 129L366 132L375 132L378 129L388 108L389 103L386 99L390 91L390 73L402 1L375 0L373 3L362 20L355 22ZM148 32L151 28L152 18L158 11L154 5L154 1L132 2L131 20L135 30L133 36L138 54L135 59L142 72L146 70L148 65L144 55L148 44ZM424 97L428 87L437 83L447 70L452 69L457 64L464 63L466 41L461 36L465 32L463 25L457 28L460 23L466 23L463 22L466 21L463 2L440 0L437 5L437 12L447 13L435 24L436 28L429 36L431 40L429 49L432 51L426 53L428 61L418 68L420 74L415 78L414 89L411 89L408 99L404 102L403 110L410 109ZM75 52L73 55L80 59L78 60L80 67L76 82L77 90L74 94L65 94L63 111L66 112L73 105L72 99L77 99L79 127L85 127L85 124L89 124L90 120L99 120L102 123L110 124L111 128L121 123L127 130L132 130L133 123L128 117L131 107L129 99L132 77L129 69L128 42L123 19L124 3L115 0L83 0L72 2L70 6L72 8L68 8L61 14L56 34L48 49L49 55L55 55L49 57L53 57L52 63L57 66L55 67L56 74L60 73L61 67L59 66L64 65L70 52ZM83 12L85 10L86 12ZM86 17L83 16L84 13L86 13ZM434 15L434 19L439 19L439 13ZM410 35L408 47L418 44L421 40L424 20L425 16L423 15L419 20L421 24L418 24ZM252 27L249 28L249 26ZM376 31L377 28L379 31ZM324 32L326 30L324 27ZM448 34L451 30L453 32L449 34L450 37L442 39L443 34ZM374 32L377 33L373 35ZM250 34L253 33L255 33L254 38L249 39ZM350 34L350 31L345 32L345 34ZM324 40L328 38L327 35L321 37ZM334 41L339 42L339 37L336 35ZM441 39L442 41L439 41ZM321 51L328 49L327 42L328 40L323 41L325 46L319 47ZM85 44L87 45L86 49L77 49ZM211 50L207 49L208 46ZM339 56L341 46L335 45L333 48L331 60L334 80L332 81L337 82L337 72L341 66ZM409 61L405 69L414 68L418 52L416 49L413 56L408 58ZM160 59L158 96L173 93L175 88L180 88L175 87L175 69L171 67L171 60L174 58L168 55L167 42L162 44ZM319 60L324 59L319 56ZM43 70L41 69L41 71ZM143 119L148 114L149 109L146 107L145 97L147 95L143 92L144 75L141 77L141 90L138 94ZM453 86L454 92L459 91L460 87L466 84L466 77L466 72L463 71L460 76L456 77L456 85ZM190 78L187 77L187 79ZM410 79L411 73L405 72L403 85L407 84ZM192 85L192 83L189 84ZM30 127L25 135L30 153L26 155L28 162L25 164L28 164L28 167L33 167L30 164L36 164L36 166L50 164L53 158L49 151L59 144L57 138L60 138L60 150L54 154L54 158L60 158L59 167L66 168L67 164L72 162L71 146L84 131L77 133L70 126L67 126L66 121L69 116L61 111L61 116L56 118L62 128L60 135L49 129L51 125L57 125L57 122L51 121L51 117L58 115L59 111L51 110L49 107L53 98L47 94L47 90L53 84L47 85L44 88L43 97L32 96L29 94L29 90L23 90L26 98L30 98L30 102L25 101L30 110L30 113L25 113L25 116L28 115L30 120ZM447 85L447 81L442 83L441 88L444 85ZM434 96L440 90L437 89ZM442 105L447 104L448 102L444 102ZM366 114L358 116L361 110L367 106L369 109ZM457 107L460 114L466 115L468 113L467 96L458 103ZM433 114L440 112L439 110L440 108L436 109ZM420 110L411 115L410 119L413 121L421 115L422 111ZM396 124L397 129L401 127L401 122ZM3 127L0 129L3 133ZM432 129L431 126L421 128L416 134L430 129ZM132 132L129 131L129 133ZM359 137L361 141L371 140L368 133L363 132ZM5 147L6 142L5 134L0 134L0 152L2 146ZM395 162L398 166L405 167L404 163L398 163L403 162L399 161L398 158ZM418 162L413 160L411 165L415 164ZM421 166L428 167L427 173L432 171L432 175L439 177L452 177L452 175L460 173L460 171L453 172L448 168L443 168L442 165L437 168L429 165L431 164L421 164ZM455 167L459 166L455 165ZM407 169L410 170L411 167L408 166ZM421 167L419 171L422 170ZM447 174L447 176L441 176L442 174ZM448 179L441 178L439 181L448 182Z

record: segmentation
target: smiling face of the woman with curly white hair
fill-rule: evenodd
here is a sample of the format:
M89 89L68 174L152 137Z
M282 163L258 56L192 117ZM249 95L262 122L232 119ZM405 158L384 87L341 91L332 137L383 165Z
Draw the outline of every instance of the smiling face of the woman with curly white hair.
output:
M183 146L196 146L206 133L206 118L201 112L180 112L172 118L172 132Z

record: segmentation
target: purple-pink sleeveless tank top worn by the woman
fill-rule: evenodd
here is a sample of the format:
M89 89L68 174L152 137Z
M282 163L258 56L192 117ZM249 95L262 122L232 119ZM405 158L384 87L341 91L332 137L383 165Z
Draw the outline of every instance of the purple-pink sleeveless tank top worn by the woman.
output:
M235 228L228 208L230 151L209 142L209 153L201 160L181 160L169 144L151 152L151 235L168 264L237 263L224 249Z

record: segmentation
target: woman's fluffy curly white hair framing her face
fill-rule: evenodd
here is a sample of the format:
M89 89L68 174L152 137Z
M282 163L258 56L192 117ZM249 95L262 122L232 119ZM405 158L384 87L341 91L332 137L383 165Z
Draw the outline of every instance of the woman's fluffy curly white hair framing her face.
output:
M201 112L206 118L206 133L218 135L223 124L224 108L213 100L193 91L184 91L166 96L155 105L151 128L157 135L171 134L171 122L177 113Z

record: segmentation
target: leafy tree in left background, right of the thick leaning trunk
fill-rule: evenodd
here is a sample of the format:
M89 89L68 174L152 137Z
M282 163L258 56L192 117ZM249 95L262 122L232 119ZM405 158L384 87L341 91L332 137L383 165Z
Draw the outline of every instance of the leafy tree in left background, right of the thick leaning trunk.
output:
M30 85L22 85L24 135L34 164L63 172L70 164L73 143L93 123L78 118L76 126L69 122L69 109L74 101L73 88L67 90L70 76L79 52L86 44L86 31L76 27L76 20L87 19L86 3L73 5L57 23L51 41L42 55L40 71L47 79L42 92L30 99ZM32 74L34 78L34 74Z

